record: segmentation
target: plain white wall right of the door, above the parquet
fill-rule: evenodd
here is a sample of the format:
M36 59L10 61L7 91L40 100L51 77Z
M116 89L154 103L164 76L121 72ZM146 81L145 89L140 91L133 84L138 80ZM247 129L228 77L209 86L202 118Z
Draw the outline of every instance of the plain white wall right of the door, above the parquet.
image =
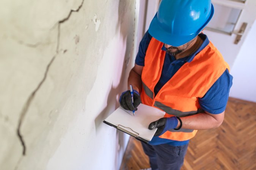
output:
M231 97L256 102L256 21L237 55L231 74L233 86Z

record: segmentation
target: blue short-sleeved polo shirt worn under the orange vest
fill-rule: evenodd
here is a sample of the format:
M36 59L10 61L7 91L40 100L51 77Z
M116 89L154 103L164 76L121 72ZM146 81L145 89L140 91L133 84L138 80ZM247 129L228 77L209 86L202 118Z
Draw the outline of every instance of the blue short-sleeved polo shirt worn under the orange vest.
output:
M190 56L181 58L176 60L174 56L170 54L165 54L165 60L163 63L162 74L160 76L159 82L155 85L154 93L155 95L159 92L159 90L165 85L168 80L173 77L173 75L186 63L191 62L196 54L198 54L202 49L204 49L208 44L209 40L207 36L203 33L199 34L199 37L203 40L202 45L198 48L197 51L190 54ZM139 51L135 59L135 63L140 66L144 66L144 58L146 55L146 51L148 49L149 42L152 36L148 33L148 31L143 36ZM163 45L162 50L166 51L165 46ZM203 73L202 73L203 74ZM207 93L202 97L198 98L199 104L201 108L212 114L219 114L225 111L229 90L232 86L233 77L229 74L228 69L220 76L220 78L212 85L212 87L207 91ZM185 145L188 141L173 141L170 139L162 139L159 137L154 137L149 144L151 145L159 145L159 144L170 144L170 145Z

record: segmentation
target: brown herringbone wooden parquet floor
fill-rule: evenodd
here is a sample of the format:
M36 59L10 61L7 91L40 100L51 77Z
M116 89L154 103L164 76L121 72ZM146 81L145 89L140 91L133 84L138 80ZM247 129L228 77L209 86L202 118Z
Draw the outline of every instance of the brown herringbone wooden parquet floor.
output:
M131 137L120 170L149 168ZM229 98L223 124L191 139L181 170L256 170L256 103Z

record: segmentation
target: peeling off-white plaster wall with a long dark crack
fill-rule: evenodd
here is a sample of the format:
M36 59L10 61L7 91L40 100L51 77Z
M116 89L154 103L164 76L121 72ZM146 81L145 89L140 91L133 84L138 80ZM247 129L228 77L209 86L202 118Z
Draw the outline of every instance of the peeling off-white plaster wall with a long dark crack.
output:
M0 169L118 169L127 136L102 121L127 88L135 1L0 9Z

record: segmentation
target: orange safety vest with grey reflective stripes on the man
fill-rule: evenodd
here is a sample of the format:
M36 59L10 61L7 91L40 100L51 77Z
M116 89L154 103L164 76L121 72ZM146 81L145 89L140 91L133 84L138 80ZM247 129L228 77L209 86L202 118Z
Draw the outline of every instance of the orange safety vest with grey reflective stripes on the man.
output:
M229 65L210 42L191 62L185 63L155 96L154 87L160 79L165 60L162 46L162 42L152 37L141 74L141 102L165 111L164 117L184 117L204 112L200 108L198 97L206 94L224 71L227 68L229 70ZM196 132L197 130L184 128L170 129L159 137L186 141L193 138Z

